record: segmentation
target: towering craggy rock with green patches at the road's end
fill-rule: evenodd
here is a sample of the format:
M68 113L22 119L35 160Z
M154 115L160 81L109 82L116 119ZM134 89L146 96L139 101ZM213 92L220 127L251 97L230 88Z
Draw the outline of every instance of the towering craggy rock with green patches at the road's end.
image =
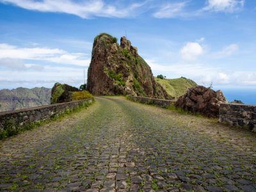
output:
M157 83L138 49L125 37L106 33L95 37L92 61L88 68L87 89L94 95L135 95L172 99Z

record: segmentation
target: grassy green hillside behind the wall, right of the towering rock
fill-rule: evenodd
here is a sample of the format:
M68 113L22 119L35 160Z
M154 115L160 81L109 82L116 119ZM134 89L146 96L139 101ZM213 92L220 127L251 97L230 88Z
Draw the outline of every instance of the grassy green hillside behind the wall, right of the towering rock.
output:
M197 86L195 81L191 79L186 79L185 77L180 77L177 79L159 79L155 77L156 81L160 83L167 93L175 98L184 95L188 88Z

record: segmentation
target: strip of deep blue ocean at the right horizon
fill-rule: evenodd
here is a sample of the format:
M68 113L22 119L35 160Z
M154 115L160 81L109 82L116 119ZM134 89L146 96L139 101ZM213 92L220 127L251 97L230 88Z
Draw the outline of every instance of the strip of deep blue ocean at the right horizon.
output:
M214 90L218 90L214 88ZM230 102L233 100L241 100L244 104L256 105L256 89L246 88L220 88L226 99Z

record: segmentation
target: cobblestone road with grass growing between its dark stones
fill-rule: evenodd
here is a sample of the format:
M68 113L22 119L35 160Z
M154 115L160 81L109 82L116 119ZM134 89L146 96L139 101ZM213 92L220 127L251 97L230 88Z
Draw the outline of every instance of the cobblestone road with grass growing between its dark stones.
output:
M0 142L0 191L256 191L256 135L124 97Z

